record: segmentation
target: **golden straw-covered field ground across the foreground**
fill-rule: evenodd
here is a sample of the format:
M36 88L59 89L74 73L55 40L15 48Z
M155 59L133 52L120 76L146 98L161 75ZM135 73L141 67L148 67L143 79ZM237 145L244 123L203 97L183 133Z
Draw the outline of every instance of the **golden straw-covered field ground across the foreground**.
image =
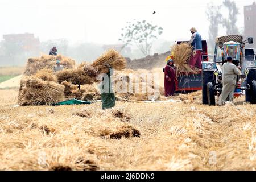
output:
M256 105L16 106L0 90L1 170L254 170Z

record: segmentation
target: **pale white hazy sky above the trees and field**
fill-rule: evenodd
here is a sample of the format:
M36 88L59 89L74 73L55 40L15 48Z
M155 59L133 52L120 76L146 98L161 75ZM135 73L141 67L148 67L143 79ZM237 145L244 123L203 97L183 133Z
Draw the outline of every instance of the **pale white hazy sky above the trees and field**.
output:
M243 6L255 0L235 1L240 8L237 26L242 28ZM163 27L160 39L189 39L191 27L208 38L205 11L209 2L218 5L222 0L0 0L0 39L3 34L30 32L41 41L67 38L73 43L114 44L121 28L133 19L145 19Z

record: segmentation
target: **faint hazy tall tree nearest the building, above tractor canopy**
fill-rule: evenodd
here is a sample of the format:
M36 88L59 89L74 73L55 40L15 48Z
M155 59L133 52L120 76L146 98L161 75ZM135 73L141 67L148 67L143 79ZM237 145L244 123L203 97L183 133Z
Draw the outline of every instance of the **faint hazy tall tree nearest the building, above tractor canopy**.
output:
M237 23L237 15L239 14L236 2L225 0L223 5L228 9L229 16L225 18L222 22L223 26L226 27L226 34L238 34L239 30L236 26Z

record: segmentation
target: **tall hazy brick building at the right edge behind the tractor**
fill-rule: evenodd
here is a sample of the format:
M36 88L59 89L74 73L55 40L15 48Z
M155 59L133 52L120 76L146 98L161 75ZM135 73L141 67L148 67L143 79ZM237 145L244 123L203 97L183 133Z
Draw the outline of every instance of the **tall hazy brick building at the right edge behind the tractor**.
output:
M245 15L245 38L253 37L256 41L256 3L244 7ZM246 48L256 49L256 43L246 44Z

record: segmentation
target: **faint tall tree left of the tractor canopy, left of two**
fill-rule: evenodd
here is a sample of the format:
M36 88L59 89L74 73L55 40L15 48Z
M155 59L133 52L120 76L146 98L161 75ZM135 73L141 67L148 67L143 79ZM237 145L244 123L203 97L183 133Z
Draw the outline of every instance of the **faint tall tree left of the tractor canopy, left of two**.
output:
M208 4L207 11L205 11L210 22L209 25L209 48L213 49L216 37L218 36L218 28L222 23L222 14L220 13L221 6L214 6L212 3Z

